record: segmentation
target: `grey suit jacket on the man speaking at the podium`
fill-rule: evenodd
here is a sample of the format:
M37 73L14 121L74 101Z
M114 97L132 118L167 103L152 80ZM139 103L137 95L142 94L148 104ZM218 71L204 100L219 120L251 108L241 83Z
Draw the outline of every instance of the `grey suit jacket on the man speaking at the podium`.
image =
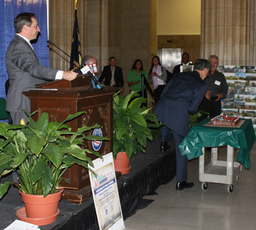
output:
M42 84L45 80L55 80L57 70L40 65L34 50L19 35L15 35L7 49L6 70L10 80L6 110L9 112L30 112L30 99L22 92Z

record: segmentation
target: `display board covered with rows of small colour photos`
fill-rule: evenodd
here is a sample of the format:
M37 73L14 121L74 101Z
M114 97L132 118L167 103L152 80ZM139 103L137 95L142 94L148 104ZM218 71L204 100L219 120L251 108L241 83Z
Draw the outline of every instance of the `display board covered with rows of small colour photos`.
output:
M256 131L256 66L218 66L217 70L229 86L221 114L251 119Z

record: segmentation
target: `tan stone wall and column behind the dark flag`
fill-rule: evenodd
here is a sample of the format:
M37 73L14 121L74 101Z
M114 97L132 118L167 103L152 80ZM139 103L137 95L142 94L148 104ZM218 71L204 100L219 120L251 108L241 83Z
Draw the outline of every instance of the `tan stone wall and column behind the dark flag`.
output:
M75 12L75 1L49 1L49 40L68 54ZM77 18L81 37L82 56L97 58L98 70L109 65L109 57L117 58L125 79L135 59L142 59L144 69L150 69L151 57L156 54L157 0L84 0L78 1ZM50 65L67 70L69 58L51 46Z

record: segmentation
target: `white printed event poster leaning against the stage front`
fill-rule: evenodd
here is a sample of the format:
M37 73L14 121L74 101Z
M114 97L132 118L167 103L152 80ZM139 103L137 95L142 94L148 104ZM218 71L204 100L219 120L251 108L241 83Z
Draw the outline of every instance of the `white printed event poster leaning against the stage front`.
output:
M98 225L100 230L121 230L125 228L125 224L119 201L113 154L111 152L102 157L103 160L93 160L94 167L88 165L95 173L89 172L89 177Z

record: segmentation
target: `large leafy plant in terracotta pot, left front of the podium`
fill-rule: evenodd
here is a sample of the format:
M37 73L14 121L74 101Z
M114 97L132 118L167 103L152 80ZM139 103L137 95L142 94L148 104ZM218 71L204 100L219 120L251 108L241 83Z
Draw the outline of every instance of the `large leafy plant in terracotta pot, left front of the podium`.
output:
M61 178L63 173L73 164L80 164L87 169L88 164L93 166L92 160L86 154L101 157L98 152L86 149L84 140L106 140L108 138L84 135L84 131L98 127L98 125L84 126L77 131L72 131L72 128L65 123L85 112L69 115L62 122L49 122L48 113L42 113L35 122L31 117L35 113L30 115L26 112L27 125L24 123L9 125L0 122L0 178L15 171L18 174L19 184L14 185L19 188L20 194L35 195L43 201L51 199L56 191L59 193L55 202L56 209L53 211L51 208L51 214L44 214L42 208L31 212L28 210L31 205L26 205L26 203L24 210L16 212L16 215L20 219L23 218L23 221L44 225L56 220L57 206L61 191L63 191L59 187L60 181L64 180ZM11 182L0 185L0 199L10 185ZM22 199L24 202L27 198ZM37 216L40 214L43 216ZM43 222L43 219L46 219L46 222Z

